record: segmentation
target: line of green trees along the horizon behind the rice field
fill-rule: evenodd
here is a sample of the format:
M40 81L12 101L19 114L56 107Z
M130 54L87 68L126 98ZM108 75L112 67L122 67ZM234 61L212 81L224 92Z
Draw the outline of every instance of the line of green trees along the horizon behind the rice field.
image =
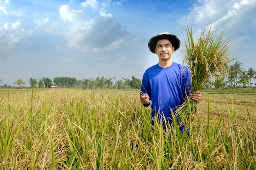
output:
M236 61L234 64L227 66L229 71L228 76L216 77L215 81L209 81L205 88L247 88L252 87L252 80L256 79L256 70L249 68L247 71L243 68L243 64ZM95 88L137 88L141 86L141 80L134 82L132 79L116 77L105 78L97 77L96 79L82 79L77 80L74 77L55 77L53 80L47 77L43 77L39 80L30 77L29 84L32 88L49 88L51 83L55 83L58 88L83 88L83 89L95 89ZM0 79L0 86L2 79ZM14 82L18 88L21 88L26 84L22 79ZM256 83L254 84L256 85ZM4 84L2 87L10 87Z

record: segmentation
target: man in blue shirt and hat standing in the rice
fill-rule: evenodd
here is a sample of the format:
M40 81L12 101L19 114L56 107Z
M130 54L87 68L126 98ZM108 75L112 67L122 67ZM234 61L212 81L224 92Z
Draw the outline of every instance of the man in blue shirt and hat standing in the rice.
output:
M141 85L145 96L141 95L140 101L145 107L148 107L151 101L152 118L158 114L163 123L171 123L171 110L175 113L187 96L197 102L201 99L200 91L191 94L189 70L171 60L172 53L179 47L179 38L170 33L157 34L148 42L149 50L157 54L159 63L145 71ZM154 121L152 123L154 124ZM180 130L183 130L183 127Z

